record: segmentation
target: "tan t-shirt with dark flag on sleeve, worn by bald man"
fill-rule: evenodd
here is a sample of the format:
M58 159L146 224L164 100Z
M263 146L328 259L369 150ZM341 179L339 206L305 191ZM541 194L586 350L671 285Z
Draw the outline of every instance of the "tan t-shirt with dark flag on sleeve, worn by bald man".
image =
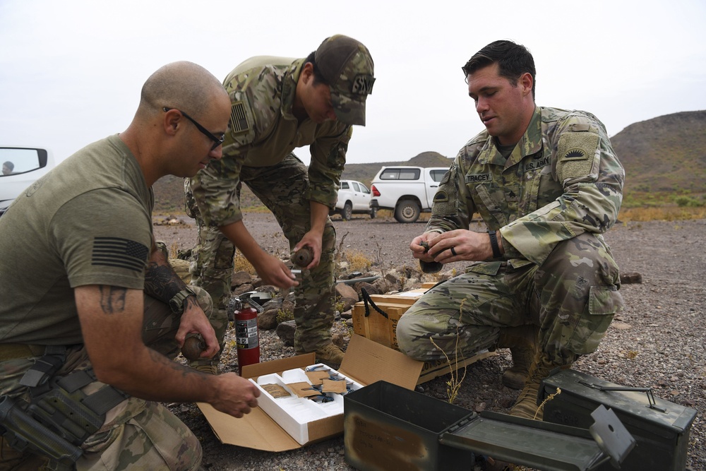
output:
M0 217L0 342L83 342L73 288L142 290L154 196L115 136L61 162Z

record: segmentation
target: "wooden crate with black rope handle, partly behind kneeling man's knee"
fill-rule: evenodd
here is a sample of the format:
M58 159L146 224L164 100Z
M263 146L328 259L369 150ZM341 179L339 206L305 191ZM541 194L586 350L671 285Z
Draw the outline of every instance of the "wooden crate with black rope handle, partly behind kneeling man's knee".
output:
M376 311L371 305L368 306L368 316L366 316L365 302L357 302L353 306L353 331L362 337L373 340L373 342L385 345L385 347L400 350L399 345L397 345L397 322L400 321L400 317L405 314L409 306L417 302L417 299L429 287L396 294L371 294L371 301L385 313L385 316ZM454 369L462 368L494 354L495 352L483 350L473 357L461 359L458 362L453 361L453 365L450 365L445 359L436 362L426 362L421 369L417 384L426 383L426 381L430 381L433 378L450 373L452 366Z

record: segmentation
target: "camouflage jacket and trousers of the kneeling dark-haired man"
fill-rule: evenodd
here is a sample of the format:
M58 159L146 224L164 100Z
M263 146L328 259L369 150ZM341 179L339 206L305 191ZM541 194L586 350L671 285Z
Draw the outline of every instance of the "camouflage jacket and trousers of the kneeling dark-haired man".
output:
M602 236L616 222L623 180L603 124L586 112L537 107L507 159L486 131L469 141L426 231L468 229L479 213L505 254L424 294L397 324L400 350L469 357L496 345L501 328L535 324L539 350L556 364L594 352L623 308Z

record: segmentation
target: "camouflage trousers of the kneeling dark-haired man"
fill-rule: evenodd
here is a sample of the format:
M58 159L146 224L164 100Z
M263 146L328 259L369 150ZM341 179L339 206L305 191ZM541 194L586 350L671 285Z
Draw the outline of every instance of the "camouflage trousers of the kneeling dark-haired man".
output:
M539 326L539 348L566 364L594 352L623 309L620 275L602 237L558 244L541 266L479 262L426 292L397 323L400 350L422 361L471 357L503 327Z

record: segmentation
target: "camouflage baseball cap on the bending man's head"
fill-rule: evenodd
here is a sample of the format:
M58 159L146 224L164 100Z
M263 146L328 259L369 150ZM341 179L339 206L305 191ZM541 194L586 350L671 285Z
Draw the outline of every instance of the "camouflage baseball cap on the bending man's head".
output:
M336 117L346 124L365 126L365 99L373 93L373 58L352 37L326 38L314 54L316 67L331 86Z

